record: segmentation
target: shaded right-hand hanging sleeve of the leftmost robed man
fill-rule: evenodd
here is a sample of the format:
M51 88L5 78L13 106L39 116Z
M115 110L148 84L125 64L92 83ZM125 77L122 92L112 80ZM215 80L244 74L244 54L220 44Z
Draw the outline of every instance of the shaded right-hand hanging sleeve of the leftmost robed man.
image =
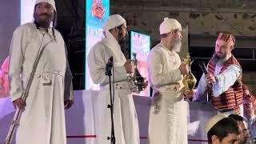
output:
M67 50L66 51L66 73L65 73L65 89L64 89L64 100L74 100L74 91L73 91L73 83L72 83L72 73L70 70L70 65L67 58Z

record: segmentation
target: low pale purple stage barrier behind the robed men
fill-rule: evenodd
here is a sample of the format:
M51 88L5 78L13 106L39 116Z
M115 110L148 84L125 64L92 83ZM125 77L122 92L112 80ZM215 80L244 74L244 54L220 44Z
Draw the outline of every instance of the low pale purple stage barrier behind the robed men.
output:
M94 144L94 98L98 91L74 91L74 106L66 110L66 134L68 144ZM150 98L134 96L138 113L141 144L147 142L147 128L150 112ZM217 111L209 103L187 102L188 139L190 144L206 142L204 127ZM6 138L10 122L14 116L14 107L10 98L0 98L0 143ZM15 143L15 142L14 142Z

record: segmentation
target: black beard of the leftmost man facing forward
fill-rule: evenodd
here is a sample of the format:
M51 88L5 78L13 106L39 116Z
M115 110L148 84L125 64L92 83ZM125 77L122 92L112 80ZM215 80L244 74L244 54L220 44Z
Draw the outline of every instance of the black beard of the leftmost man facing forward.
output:
M45 15L47 18L39 18L41 15ZM38 27L42 27L42 28L48 28L50 26L50 22L51 22L51 16L50 14L34 14L34 23L36 24L36 26Z

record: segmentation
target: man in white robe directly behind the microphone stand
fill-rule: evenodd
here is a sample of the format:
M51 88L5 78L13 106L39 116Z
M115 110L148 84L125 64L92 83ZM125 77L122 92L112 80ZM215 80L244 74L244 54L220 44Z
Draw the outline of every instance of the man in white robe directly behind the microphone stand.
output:
M96 99L95 133L98 144L110 143L111 118L109 78L105 75L106 63L113 56L114 64L114 132L118 144L139 144L138 118L134 107L127 74L133 72L130 60L126 61L118 42L127 34L126 20L118 14L111 15L103 26L106 38L96 43L90 50L87 60L90 76L95 84L100 84ZM112 77L111 77L112 80ZM112 93L113 94L113 93Z

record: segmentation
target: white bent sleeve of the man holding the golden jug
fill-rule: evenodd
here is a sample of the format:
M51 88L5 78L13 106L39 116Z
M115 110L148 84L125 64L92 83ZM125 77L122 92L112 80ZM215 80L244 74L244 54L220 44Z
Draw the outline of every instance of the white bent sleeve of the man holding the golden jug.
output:
M171 70L166 73L163 72L163 66L165 64L161 57L163 57L163 55L161 55L159 51L151 50L147 58L150 83L156 88L182 80L182 74L179 69Z

